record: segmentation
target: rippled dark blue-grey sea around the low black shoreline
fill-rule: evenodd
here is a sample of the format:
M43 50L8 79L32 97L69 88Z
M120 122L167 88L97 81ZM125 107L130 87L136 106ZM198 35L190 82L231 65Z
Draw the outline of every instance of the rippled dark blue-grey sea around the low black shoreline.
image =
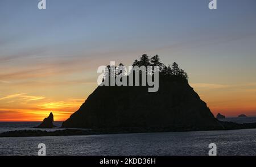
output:
M244 122L245 119L242 119ZM254 120L256 122L256 119ZM251 118L248 121L251 122ZM31 129L31 126L38 125L38 123L10 123L9 126L8 124L0 123L0 130ZM60 124L61 122L59 122L59 126ZM57 129L59 128L53 130ZM38 155L39 143L46 144L47 155L207 156L210 143L217 145L217 155L256 155L256 129L88 136L3 137L0 138L0 155Z

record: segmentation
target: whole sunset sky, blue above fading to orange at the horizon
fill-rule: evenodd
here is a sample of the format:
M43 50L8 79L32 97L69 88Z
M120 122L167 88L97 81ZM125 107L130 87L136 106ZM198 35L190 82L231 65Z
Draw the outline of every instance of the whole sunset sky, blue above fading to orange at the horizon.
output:
M0 121L65 120L98 66L177 62L216 115L256 116L256 1L0 1Z

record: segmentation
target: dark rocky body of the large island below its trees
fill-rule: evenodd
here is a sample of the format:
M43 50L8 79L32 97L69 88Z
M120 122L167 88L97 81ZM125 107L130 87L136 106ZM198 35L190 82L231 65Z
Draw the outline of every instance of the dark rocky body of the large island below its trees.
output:
M62 127L171 127L176 131L223 128L187 81L160 80L156 93L148 93L147 88L97 87Z

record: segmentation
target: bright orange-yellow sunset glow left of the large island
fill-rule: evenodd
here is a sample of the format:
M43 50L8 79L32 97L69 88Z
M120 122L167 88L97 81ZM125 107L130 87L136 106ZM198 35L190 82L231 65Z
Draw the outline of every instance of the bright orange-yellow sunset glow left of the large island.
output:
M84 102L82 99L55 102L45 102L42 99L31 102L26 99L26 102L20 102L16 95L11 97L15 99L9 105L0 107L0 122L42 122L50 112L55 121L64 121Z

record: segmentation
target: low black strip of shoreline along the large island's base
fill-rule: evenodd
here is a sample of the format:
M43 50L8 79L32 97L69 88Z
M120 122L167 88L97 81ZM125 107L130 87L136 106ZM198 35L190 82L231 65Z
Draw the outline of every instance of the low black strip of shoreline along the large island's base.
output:
M233 122L220 122L224 128L180 128L180 127L167 127L167 128L91 128L91 129L75 129L67 128L65 130L56 131L42 131L42 130L20 130L8 131L0 133L0 137L40 137L40 136L83 136L83 135L108 135L118 133L154 133L154 132L189 132L189 131L226 131L226 130L242 130L256 128L256 123L233 123Z

